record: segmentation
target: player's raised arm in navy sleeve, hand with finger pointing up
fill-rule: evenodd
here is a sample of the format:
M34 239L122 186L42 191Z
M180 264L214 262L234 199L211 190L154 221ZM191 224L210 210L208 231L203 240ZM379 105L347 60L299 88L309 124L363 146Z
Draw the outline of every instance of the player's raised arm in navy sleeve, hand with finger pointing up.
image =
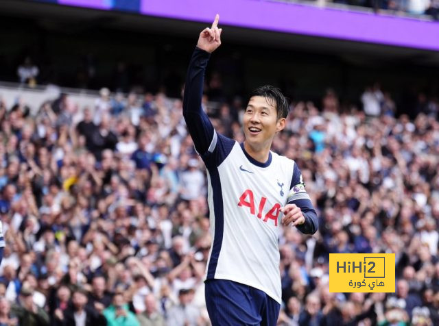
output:
M215 147L216 134L211 121L202 110L204 72L210 54L221 45L222 29L217 27L219 15L215 16L212 27L203 29L198 38L197 47L193 51L187 69L185 95L183 97L183 116L195 149L200 155Z

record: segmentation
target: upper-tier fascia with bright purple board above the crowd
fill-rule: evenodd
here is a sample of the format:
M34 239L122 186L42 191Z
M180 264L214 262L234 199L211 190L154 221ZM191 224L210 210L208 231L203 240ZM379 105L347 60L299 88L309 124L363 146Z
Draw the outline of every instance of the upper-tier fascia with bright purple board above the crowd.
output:
M38 18L47 27L74 30L106 25L176 36L193 35L219 12L222 25L228 26L228 38L244 44L439 63L439 23L434 21L289 1L131 1L137 3L137 13L111 10L110 3L117 2L3 0L0 9L3 14Z

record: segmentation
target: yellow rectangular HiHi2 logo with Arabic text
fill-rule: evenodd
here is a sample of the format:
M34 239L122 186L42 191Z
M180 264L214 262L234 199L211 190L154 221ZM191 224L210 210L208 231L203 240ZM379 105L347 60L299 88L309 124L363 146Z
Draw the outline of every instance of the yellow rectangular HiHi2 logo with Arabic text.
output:
M330 253L330 292L395 292L394 253Z

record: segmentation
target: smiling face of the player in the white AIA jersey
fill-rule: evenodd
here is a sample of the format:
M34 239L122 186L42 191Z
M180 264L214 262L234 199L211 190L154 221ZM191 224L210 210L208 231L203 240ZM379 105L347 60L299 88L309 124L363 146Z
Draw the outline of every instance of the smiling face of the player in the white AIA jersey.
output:
M250 98L244 113L246 142L258 150L270 146L277 131L285 127L285 118L277 118L276 103L265 97Z

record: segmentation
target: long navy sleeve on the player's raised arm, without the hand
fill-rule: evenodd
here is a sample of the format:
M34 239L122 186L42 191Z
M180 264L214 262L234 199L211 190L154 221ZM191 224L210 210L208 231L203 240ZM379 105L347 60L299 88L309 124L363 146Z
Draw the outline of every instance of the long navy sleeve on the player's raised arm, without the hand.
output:
M210 53L195 48L187 69L185 94L183 96L183 116L189 134L191 134L193 145L195 145L195 149L200 155L204 155L209 147L215 147L214 136L216 138L215 129L213 129L209 117L201 106L204 72L209 57ZM211 148L211 151L213 151L213 148Z

